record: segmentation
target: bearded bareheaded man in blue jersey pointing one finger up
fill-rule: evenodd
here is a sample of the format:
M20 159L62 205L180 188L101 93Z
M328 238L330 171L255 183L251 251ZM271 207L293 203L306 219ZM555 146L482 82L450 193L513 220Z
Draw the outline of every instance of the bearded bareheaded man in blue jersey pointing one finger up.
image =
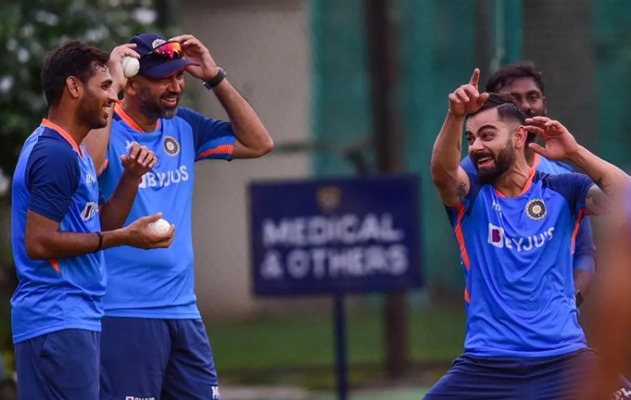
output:
M526 119L512 98L479 93L479 77L476 69L449 95L432 153L432 180L466 269L468 315L464 354L425 398L575 399L596 360L577 321L575 234L630 178L579 146L560 122ZM475 172L459 166L465 119ZM545 148L526 144L528 132ZM536 171L526 146L586 175Z

